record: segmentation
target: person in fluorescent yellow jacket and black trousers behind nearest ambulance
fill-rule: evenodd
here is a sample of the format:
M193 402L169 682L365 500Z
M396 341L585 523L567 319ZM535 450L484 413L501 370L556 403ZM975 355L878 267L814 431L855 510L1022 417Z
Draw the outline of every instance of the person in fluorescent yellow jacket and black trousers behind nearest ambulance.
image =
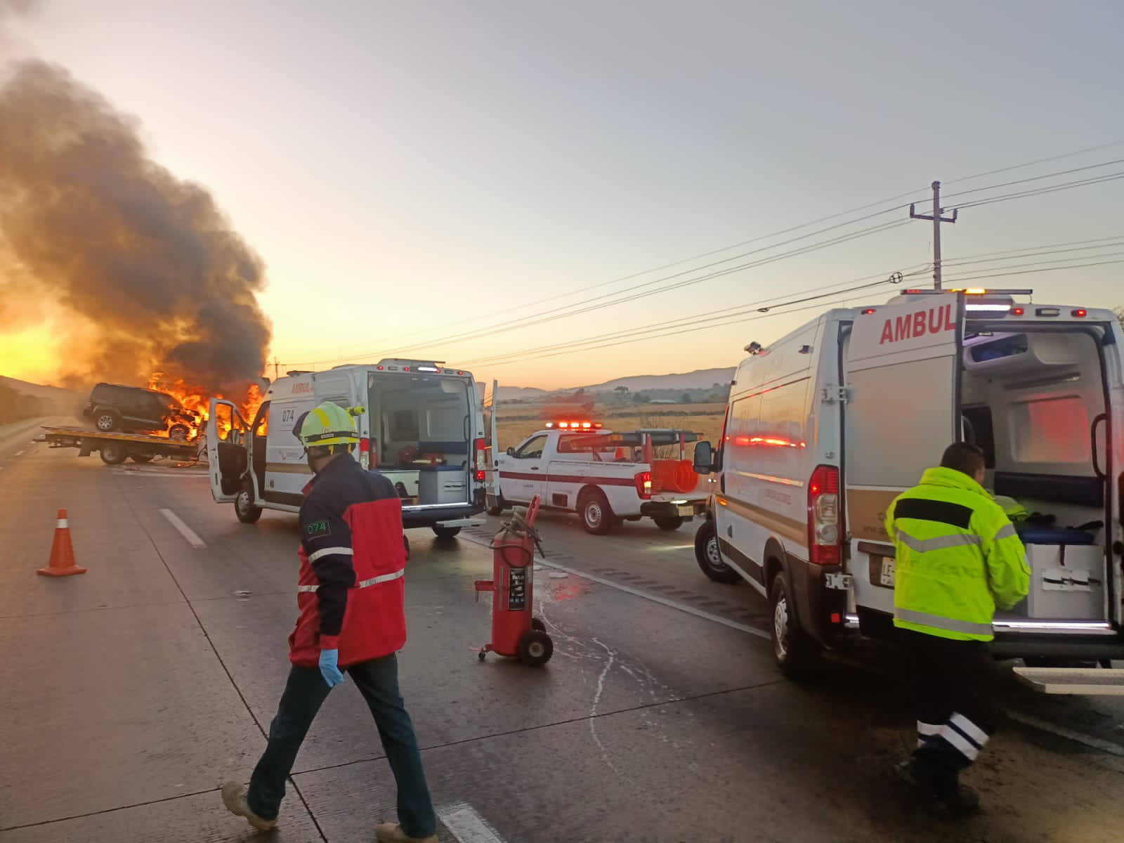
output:
M886 516L894 625L922 699L917 749L897 770L954 815L979 807L959 777L998 726L991 618L1026 597L1031 574L1014 525L981 486L985 466L980 448L952 444Z

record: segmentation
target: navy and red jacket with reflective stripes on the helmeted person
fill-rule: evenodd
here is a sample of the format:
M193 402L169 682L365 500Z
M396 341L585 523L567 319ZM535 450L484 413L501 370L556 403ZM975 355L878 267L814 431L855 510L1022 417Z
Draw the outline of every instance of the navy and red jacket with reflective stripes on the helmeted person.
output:
M401 650L406 547L393 484L341 455L306 487L300 529L289 661L315 668L321 650L338 650L346 668Z

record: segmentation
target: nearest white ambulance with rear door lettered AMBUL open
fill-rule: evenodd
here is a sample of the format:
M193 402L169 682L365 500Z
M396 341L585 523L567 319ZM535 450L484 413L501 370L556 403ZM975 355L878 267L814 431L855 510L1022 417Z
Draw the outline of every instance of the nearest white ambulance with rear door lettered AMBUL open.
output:
M1124 656L1124 332L1108 310L1016 303L1030 293L907 290L746 347L717 453L696 446L715 481L696 556L770 600L786 673L855 631L892 635L886 510L954 441L1044 516L1018 525L1030 595L996 616L994 653Z

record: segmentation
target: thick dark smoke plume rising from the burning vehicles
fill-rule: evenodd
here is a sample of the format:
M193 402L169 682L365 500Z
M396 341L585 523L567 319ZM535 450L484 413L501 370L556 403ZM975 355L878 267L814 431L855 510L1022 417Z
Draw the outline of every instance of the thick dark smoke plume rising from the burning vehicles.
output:
M0 0L0 18L31 6ZM223 391L264 369L264 287L262 260L210 193L149 158L133 119L58 66L7 69L0 333L49 314L72 386L162 371Z

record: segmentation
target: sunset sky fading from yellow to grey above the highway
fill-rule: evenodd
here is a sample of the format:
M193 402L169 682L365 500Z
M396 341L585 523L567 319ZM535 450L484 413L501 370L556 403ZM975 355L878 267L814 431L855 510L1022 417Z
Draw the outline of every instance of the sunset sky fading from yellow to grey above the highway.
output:
M8 57L66 66L212 192L266 263L282 369L436 357L556 388L734 365L834 301L892 293L719 327L706 314L923 269L931 225L660 284L906 220L899 208L779 245L909 191L927 212L934 179L950 197L977 191L955 205L1124 173L1118 0L47 0L12 31ZM970 285L1124 305L1122 200L1117 179L966 207L942 229L944 257L1015 256L966 275L1100 263ZM611 307L491 329L644 282ZM696 315L673 335L580 345ZM49 381L67 353L57 326L13 327L0 374Z

